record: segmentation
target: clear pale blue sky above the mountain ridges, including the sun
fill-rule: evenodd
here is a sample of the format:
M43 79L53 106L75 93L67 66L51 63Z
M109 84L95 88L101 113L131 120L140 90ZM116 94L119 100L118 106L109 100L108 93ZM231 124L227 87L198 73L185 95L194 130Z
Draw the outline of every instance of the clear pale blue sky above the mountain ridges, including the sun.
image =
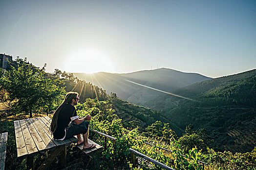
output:
M46 71L256 68L256 0L0 0L0 53Z

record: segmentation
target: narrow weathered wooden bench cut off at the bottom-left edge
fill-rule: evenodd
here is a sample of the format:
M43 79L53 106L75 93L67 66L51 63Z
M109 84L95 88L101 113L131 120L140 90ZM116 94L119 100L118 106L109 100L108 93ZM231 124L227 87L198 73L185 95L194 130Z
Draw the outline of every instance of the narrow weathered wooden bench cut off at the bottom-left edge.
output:
M0 170L4 170L8 132L0 134Z

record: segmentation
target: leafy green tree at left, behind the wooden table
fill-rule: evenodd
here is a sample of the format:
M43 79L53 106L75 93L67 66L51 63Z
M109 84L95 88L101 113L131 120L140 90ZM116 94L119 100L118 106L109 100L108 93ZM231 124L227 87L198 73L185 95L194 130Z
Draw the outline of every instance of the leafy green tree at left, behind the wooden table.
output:
M17 63L18 68L6 71L1 81L14 110L29 113L32 117L32 111L54 107L65 93L64 88L58 86L62 82L44 76L46 64L40 69L22 59L17 59Z

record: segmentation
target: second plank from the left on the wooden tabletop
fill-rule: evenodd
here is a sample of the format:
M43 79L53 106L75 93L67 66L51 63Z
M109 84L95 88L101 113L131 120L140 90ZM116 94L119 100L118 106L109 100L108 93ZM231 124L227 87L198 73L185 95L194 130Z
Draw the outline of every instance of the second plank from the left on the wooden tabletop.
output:
M28 130L25 120L20 120L20 123L28 154L38 153L37 146Z

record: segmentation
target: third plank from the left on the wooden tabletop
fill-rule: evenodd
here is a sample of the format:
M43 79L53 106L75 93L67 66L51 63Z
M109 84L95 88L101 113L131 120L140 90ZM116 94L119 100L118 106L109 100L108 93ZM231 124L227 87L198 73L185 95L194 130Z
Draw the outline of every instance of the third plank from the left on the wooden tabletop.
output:
M25 119L25 122L26 122L28 130L36 144L38 151L41 151L41 153L45 153L46 150L48 149L48 147L43 142L43 139L41 138L40 134L37 132L37 130L35 129L34 125L30 121L30 119Z

